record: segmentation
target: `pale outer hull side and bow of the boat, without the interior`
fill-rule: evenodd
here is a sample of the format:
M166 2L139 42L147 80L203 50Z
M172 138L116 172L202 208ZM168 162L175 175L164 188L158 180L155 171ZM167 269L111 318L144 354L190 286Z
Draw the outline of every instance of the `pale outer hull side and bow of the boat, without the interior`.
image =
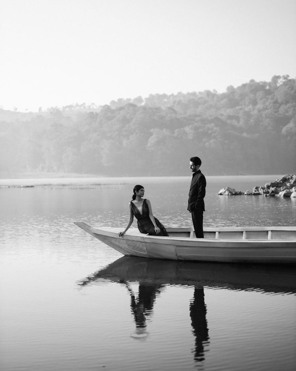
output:
M296 239L157 237L137 230L119 237L119 231L114 228L92 228L83 222L75 224L123 255L200 262L296 263Z

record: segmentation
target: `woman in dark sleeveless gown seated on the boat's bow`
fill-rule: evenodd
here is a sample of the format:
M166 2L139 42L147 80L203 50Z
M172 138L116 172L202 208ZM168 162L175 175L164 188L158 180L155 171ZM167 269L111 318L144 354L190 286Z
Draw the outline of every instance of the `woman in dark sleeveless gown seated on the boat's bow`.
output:
M138 229L141 233L146 233L151 236L167 236L168 233L160 221L152 214L151 203L144 197L144 187L140 184L135 185L132 200L129 203L129 221L123 232L119 232L118 236L123 236L134 221L134 216L138 220Z

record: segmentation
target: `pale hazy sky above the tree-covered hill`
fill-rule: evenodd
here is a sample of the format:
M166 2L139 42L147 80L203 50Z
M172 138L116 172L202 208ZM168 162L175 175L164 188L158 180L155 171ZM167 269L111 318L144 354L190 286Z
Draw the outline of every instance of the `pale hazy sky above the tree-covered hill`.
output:
M296 77L295 0L0 0L0 107Z

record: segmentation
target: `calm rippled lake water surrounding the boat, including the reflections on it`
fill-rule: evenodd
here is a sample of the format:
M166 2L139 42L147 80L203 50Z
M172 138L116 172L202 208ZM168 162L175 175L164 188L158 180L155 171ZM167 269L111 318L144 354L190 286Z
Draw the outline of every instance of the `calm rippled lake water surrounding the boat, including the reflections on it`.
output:
M218 196L278 177L207 177L204 225L295 226L296 199ZM190 180L0 180L35 185L0 188L1 371L295 370L294 267L123 257L73 224L123 230L142 184L191 225Z

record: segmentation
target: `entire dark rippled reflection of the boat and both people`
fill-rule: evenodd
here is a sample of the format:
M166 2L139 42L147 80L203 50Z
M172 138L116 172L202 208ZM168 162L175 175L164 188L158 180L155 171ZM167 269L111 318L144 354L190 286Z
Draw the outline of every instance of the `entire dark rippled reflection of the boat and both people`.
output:
M148 335L146 319L153 313L155 299L167 285L194 287L189 303L192 332L195 336L194 359L205 359L204 347L209 344L204 288L259 291L275 294L296 294L296 272L293 266L259 266L219 263L182 262L123 256L104 269L80 280L85 286L101 281L125 285L131 297L135 338ZM138 285L138 295L132 290Z

